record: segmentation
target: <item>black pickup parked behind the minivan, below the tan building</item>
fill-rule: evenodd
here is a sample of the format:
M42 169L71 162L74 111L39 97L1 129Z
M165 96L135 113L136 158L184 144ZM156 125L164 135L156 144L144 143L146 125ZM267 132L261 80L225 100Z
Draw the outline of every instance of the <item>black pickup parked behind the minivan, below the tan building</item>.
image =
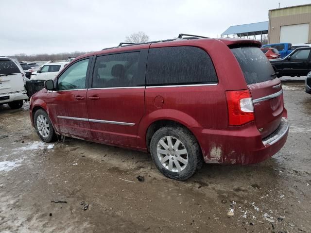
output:
M295 49L283 59L270 60L277 69L277 76L304 76L311 71L311 47Z

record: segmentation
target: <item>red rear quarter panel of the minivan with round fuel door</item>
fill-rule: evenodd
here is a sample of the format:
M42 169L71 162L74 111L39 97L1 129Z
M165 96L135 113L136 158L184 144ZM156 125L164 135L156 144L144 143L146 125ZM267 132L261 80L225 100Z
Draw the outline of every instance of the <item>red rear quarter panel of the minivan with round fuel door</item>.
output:
M170 119L188 128L225 129L228 126L226 90L247 89L242 70L233 53L220 40L181 40L174 43L152 44L150 48L166 46L195 46L211 57L218 77L217 85L147 87L145 90L145 116L138 129L138 147L146 148L146 132L156 120ZM163 106L156 107L157 96ZM200 141L200 140L199 140Z

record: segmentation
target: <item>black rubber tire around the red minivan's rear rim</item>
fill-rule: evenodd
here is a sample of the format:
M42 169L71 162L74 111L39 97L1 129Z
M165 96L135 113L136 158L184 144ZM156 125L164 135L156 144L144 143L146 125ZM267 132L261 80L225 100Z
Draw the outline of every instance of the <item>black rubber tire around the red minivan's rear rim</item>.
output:
M187 150L188 164L181 171L170 171L169 168L166 168L160 162L157 155L157 146L160 139L165 138L166 136L178 139L183 144L182 146ZM189 132L188 129L181 126L166 126L157 130L151 138L150 152L152 159L155 162L155 166L160 170L160 172L168 178L174 180L187 180L196 172L197 169L201 168L203 164L202 152L196 138ZM172 155L172 158L175 157Z

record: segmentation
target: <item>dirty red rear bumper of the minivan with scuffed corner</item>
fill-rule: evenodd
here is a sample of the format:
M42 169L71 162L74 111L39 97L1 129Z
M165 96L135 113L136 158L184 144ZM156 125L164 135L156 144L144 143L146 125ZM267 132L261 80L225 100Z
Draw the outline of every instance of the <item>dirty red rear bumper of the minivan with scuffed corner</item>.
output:
M266 160L284 146L289 123L283 117L276 131L265 138L261 138L255 122L229 128L191 128L199 141L206 163L255 164Z

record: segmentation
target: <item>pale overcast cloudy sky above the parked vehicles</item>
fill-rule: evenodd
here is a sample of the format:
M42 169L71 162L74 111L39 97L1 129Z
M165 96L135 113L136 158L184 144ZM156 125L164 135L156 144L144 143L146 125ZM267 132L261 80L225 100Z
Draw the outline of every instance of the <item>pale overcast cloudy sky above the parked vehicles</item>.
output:
M133 32L151 40L178 33L219 36L229 26L268 20L268 10L310 0L1 1L0 55L101 50Z

